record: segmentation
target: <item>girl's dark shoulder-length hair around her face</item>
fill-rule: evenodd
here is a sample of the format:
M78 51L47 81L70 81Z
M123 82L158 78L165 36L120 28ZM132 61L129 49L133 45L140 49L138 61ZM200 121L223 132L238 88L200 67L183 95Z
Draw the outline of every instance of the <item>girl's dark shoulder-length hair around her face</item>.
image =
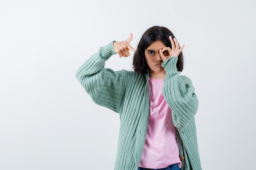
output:
M133 55L132 68L136 73L146 73L149 69L148 63L146 62L145 49L150 46L153 42L160 40L165 46L171 48L171 41L169 36L175 38L173 33L164 26L152 26L150 27L141 37L139 41L137 50ZM183 55L182 52L178 56L177 61L177 71L182 71L183 69Z

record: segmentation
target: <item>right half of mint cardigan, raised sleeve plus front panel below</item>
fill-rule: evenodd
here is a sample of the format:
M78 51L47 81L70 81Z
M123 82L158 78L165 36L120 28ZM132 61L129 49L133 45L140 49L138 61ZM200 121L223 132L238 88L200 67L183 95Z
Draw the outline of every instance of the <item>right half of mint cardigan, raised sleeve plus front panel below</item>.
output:
M181 138L178 143L185 159L182 170L201 170L194 115L198 110L198 98L191 80L180 76L177 71L177 57L170 57L162 66L165 68L164 87L166 102L172 110L173 124ZM178 139L179 140L179 139Z

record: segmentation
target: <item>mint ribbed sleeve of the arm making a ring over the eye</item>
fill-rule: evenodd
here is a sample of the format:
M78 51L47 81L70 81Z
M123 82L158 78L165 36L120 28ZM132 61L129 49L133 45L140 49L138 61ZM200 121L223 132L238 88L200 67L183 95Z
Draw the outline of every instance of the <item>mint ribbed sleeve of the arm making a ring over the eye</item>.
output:
M171 57L163 66L166 70L163 94L172 109L173 123L177 128L183 128L194 117L198 109L198 98L191 80L180 76L176 67L177 57Z

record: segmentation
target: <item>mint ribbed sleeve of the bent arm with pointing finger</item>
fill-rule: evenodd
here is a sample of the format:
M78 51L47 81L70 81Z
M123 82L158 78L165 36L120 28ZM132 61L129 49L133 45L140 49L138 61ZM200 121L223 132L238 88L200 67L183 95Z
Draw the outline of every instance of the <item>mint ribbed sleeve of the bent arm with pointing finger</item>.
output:
M104 68L106 60L114 54L113 42L101 47L83 63L76 78L96 104L118 112L123 98L124 71Z

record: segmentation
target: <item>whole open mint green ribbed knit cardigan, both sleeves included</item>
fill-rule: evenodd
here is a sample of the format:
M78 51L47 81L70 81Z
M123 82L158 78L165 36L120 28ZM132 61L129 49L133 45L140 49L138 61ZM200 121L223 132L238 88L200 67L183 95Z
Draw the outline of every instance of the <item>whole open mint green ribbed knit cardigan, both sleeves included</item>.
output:
M148 127L148 73L105 68L114 54L113 42L101 47L79 68L76 78L96 104L120 115L115 170L137 170ZM194 121L198 98L191 80L179 75L176 63L177 57L162 63L166 70L162 92L177 129L180 156L184 157L182 170L201 170Z

